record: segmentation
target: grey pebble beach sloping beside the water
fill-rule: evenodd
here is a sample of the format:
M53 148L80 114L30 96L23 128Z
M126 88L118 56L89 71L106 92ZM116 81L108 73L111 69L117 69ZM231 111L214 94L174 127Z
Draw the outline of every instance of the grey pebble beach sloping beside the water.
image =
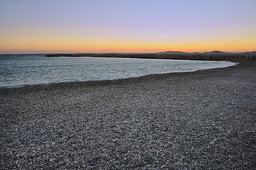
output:
M256 169L256 61L0 89L0 169Z

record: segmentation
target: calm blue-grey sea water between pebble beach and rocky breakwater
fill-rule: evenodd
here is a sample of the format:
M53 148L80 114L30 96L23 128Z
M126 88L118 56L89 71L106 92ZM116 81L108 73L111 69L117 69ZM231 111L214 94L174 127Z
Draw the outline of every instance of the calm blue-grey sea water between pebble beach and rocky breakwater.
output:
M131 58L47 58L42 54L0 55L0 88L56 82L99 81L156 73L191 72L235 65L227 61Z

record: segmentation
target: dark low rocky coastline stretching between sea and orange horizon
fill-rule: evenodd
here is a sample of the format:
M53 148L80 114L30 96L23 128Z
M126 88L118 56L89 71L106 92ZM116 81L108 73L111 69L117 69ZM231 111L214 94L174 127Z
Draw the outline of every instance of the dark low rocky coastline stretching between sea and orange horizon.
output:
M157 53L76 53L76 54L47 54L46 57L97 57L97 58L147 58L147 59L190 59L207 61L232 61L242 62L256 60L256 51L252 52L221 52L218 50L212 52L180 52L165 51Z

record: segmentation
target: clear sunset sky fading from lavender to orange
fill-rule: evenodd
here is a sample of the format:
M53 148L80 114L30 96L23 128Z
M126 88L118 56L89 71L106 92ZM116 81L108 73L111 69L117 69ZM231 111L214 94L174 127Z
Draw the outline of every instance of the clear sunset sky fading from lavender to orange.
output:
M0 0L0 54L256 50L256 0Z

